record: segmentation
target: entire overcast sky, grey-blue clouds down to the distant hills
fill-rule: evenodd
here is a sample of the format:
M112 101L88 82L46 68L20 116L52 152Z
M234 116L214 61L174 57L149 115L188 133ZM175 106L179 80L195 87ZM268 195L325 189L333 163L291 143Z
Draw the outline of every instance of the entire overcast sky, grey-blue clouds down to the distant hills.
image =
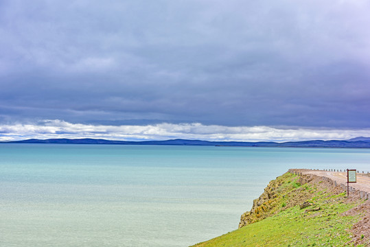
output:
M0 0L0 141L370 137L370 1Z

